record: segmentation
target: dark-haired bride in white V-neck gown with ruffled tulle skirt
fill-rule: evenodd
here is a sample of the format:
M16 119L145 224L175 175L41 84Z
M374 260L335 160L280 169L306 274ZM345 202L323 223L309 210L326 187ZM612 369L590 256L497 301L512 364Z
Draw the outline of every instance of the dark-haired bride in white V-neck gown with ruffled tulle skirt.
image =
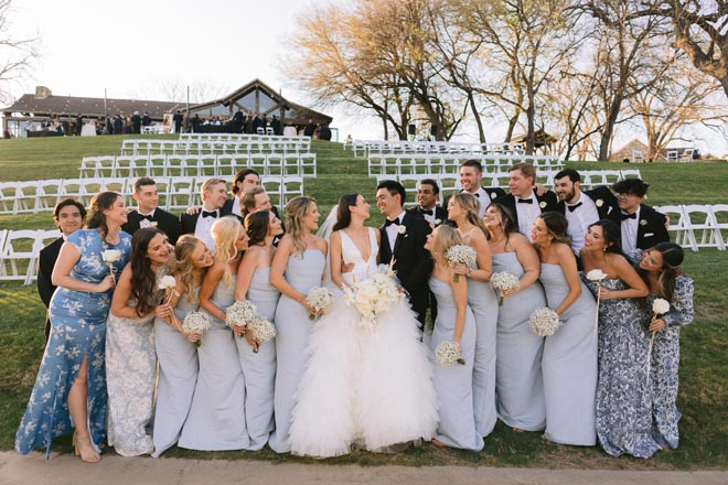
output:
M312 323L308 364L290 428L291 452L317 457L430 440L438 422L432 365L419 324L400 299L367 330L340 288L377 269L379 231L364 226L370 204L361 194L340 198L331 234L331 281L336 303ZM342 272L345 265L351 272Z

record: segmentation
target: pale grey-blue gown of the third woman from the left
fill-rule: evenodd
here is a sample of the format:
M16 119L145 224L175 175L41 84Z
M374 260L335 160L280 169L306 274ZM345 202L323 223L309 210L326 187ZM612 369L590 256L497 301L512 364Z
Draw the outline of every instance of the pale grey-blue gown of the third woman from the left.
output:
M186 293L180 295L174 308L174 314L180 322L184 322L189 312L197 310L199 294L200 287L194 289L192 301L188 301ZM194 344L161 319L154 319L154 345L159 362L159 378L152 456L158 457L180 439L192 406L199 365L197 348Z

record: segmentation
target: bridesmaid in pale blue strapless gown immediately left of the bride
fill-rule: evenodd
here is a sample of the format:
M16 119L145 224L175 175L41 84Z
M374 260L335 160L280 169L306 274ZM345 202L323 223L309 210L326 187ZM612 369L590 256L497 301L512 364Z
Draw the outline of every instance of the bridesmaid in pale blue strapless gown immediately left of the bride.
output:
M308 304L311 288L321 285L326 266L326 241L312 231L319 227L315 201L307 196L291 198L286 204L288 234L278 245L270 266L270 284L282 294L276 309L275 387L276 431L268 445L277 453L291 451L289 428L293 396L306 367L306 347L311 333Z

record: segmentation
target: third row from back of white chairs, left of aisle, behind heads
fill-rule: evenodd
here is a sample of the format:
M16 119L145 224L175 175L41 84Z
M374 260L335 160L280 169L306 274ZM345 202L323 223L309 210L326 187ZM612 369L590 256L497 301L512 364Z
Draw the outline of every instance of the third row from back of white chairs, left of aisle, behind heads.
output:
M199 185L207 176L154 177L164 209L184 209L199 201ZM127 205L133 205L131 192L135 179L53 179L0 183L0 214L23 214L53 211L56 202L73 197L88 205L92 197L105 191L124 194ZM285 205L290 197L303 195L303 177L298 175L263 175L261 185L276 204Z

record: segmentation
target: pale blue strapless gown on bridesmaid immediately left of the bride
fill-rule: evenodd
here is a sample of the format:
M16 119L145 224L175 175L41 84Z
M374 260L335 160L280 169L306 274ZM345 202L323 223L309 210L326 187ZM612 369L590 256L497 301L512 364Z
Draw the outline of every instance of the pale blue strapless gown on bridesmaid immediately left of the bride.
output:
M291 255L286 265L286 281L296 291L308 294L311 288L321 285L326 258L318 249ZM276 385L274 416L276 430L268 440L277 453L291 451L289 428L293 410L293 395L306 366L306 346L311 325L308 311L297 301L282 294L276 308Z

